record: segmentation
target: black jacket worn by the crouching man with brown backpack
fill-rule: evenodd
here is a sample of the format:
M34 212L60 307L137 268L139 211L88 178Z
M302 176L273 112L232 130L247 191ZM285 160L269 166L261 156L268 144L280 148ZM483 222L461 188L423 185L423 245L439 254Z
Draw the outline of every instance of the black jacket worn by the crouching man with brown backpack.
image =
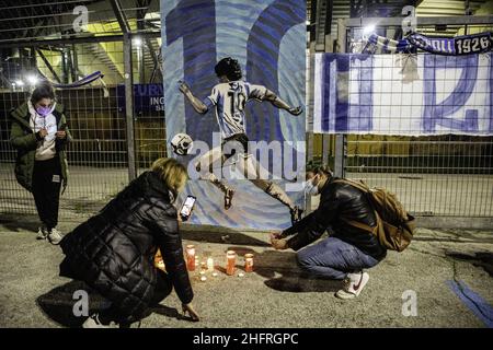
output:
M351 185L334 183L335 179L331 177L321 189L319 208L283 232L285 237L298 233L288 241L288 246L298 250L318 240L330 226L333 237L354 245L378 260L382 259L387 249L376 236L341 220L344 217L375 226L377 221L366 195Z

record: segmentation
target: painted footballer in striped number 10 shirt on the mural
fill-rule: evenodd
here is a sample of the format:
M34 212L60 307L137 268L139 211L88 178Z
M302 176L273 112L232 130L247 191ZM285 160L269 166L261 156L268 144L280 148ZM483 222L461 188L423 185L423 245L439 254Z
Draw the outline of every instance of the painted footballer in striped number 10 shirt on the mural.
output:
M234 189L229 187L225 180L218 179L213 174L211 167L217 161L220 161L221 164L223 164L229 158L234 155L234 152L231 154L225 154L222 152L222 145L225 143L239 142L244 154L244 161L239 162L239 168L242 168L243 171L246 168L249 171L248 174L252 174L253 172L255 176L252 176L253 178L249 176L248 178L256 187L288 207L291 214L291 222L299 221L302 212L301 209L294 205L293 200L278 185L268 179L261 179L260 165L256 164L254 156L245 156L248 154L249 139L245 133L244 106L246 102L251 100L260 102L267 101L275 107L287 110L293 116L299 116L302 113L302 107L291 107L267 88L242 81L241 66L238 60L231 57L221 59L216 65L215 71L219 79L219 84L214 86L210 95L204 101L194 96L185 82L181 82L180 84L180 91L185 95L197 113L206 114L213 106L215 107L217 122L221 130L221 147L214 148L204 154L195 164L197 172L200 174L200 178L210 180L225 194L225 209L228 210L231 207ZM206 164L206 168L203 168L200 164Z

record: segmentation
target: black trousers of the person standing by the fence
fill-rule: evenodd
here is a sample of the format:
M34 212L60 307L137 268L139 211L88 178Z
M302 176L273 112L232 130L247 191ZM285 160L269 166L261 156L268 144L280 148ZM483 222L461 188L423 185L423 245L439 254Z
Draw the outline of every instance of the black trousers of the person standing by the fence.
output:
M58 224L60 202L61 165L58 156L47 161L35 161L33 172L33 196L37 214L48 230Z

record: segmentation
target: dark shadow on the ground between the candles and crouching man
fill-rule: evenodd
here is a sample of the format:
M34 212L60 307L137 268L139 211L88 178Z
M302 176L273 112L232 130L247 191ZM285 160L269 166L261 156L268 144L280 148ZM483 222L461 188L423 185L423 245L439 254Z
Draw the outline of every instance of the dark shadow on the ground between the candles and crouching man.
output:
M279 292L309 293L309 292L336 292L342 288L342 282L314 278L298 268L296 253L265 250L256 254L245 247L230 246L228 250L237 252L240 257L246 253L254 254L254 273L266 278L264 284ZM238 265L239 266L239 265ZM240 267L240 266L239 266Z

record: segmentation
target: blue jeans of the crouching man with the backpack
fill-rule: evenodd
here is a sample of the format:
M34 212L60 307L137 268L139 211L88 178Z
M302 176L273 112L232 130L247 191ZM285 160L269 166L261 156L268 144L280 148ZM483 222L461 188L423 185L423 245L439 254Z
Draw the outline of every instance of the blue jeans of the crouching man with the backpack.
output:
M379 261L336 237L325 238L297 254L298 265L305 272L317 277L342 280L349 272L370 268Z

